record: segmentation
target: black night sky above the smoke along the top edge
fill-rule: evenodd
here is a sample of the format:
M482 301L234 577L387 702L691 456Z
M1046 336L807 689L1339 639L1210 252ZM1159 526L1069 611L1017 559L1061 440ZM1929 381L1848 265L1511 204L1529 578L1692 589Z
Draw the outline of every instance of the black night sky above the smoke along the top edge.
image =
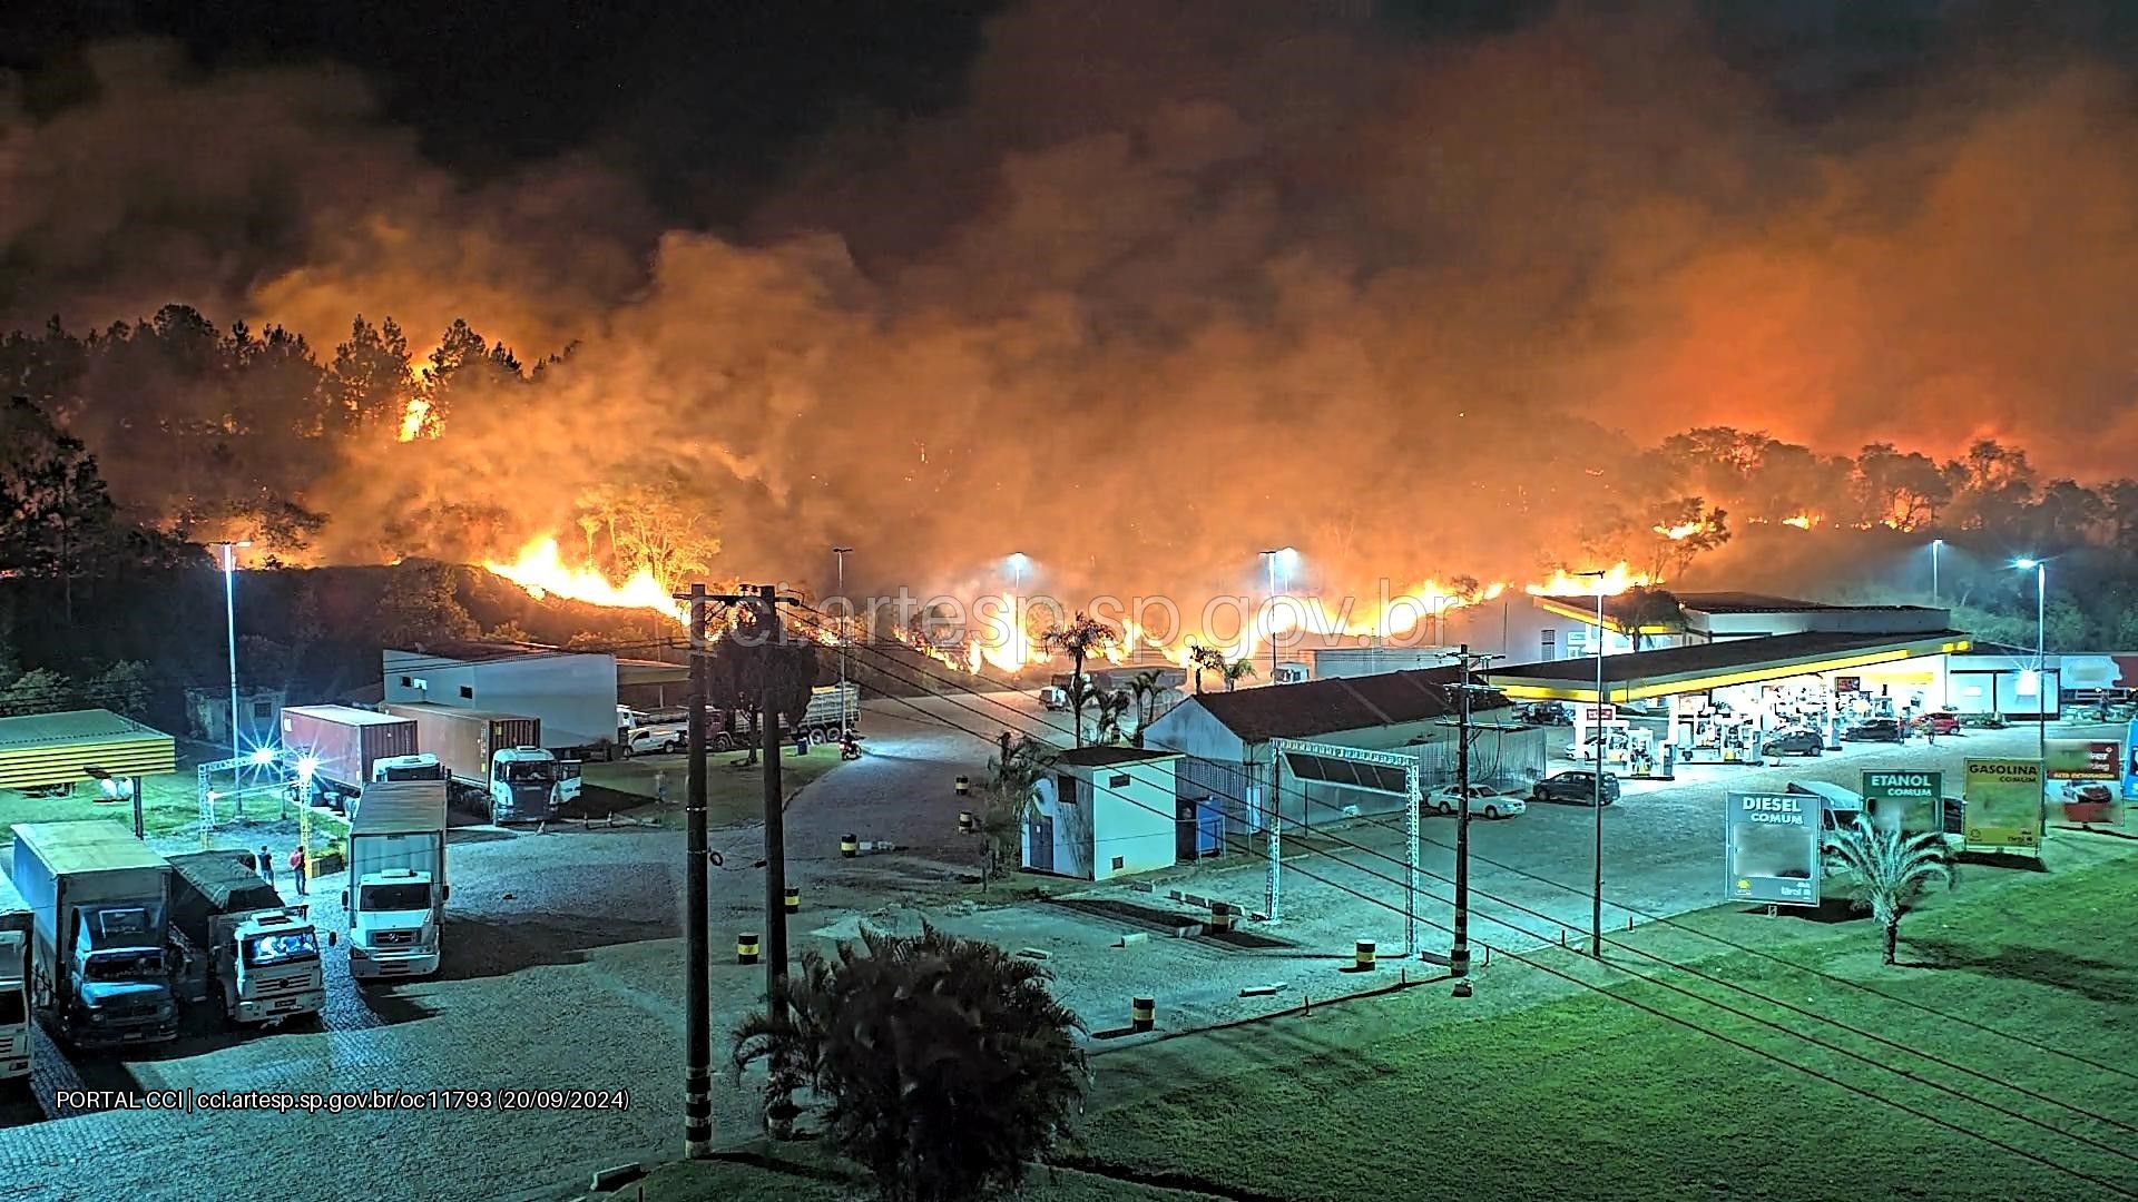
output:
M425 156L483 178L590 150L678 216L733 216L838 120L958 105L983 21L1009 0L32 0L0 15L0 64L30 109L81 98L79 49L175 38L205 68L357 66ZM1163 0L1155 0L1163 2ZM1541 0L1300 0L1373 9L1392 41L1544 17ZM1704 0L1725 51L1817 118L1954 53L2134 43L2114 0ZM1640 9L1640 4L1627 4ZM1105 4L1095 2L1095 13Z

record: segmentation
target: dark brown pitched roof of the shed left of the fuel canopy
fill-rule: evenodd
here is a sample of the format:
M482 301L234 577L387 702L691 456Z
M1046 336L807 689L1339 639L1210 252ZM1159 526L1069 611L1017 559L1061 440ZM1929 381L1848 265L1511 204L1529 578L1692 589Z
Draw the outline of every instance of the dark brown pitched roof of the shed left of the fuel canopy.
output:
M1336 680L1304 680L1300 684L1264 684L1238 693L1204 693L1199 702L1210 716L1244 742L1270 738L1315 738L1343 729L1373 729L1420 723L1454 714L1454 693L1445 684L1460 680L1458 667L1415 667L1379 676L1343 676ZM1471 710L1505 706L1499 695L1475 695Z

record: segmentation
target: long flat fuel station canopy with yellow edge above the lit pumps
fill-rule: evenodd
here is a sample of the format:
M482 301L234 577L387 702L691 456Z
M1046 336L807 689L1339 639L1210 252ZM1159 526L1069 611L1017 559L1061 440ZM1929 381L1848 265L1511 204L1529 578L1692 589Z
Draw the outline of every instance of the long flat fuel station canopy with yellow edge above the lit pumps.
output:
M1971 648L1961 631L1924 633L1800 633L1689 644L1604 657L1604 699L1640 702L1706 693L1730 684L1787 680L1817 672L1847 672ZM1524 702L1597 702L1597 661L1552 659L1486 672L1486 682Z

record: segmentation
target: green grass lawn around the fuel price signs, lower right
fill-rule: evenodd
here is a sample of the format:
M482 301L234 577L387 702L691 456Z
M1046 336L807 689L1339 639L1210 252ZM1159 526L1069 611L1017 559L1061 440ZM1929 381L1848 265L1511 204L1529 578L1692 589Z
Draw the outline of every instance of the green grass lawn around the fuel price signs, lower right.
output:
M1710 911L1732 937L1768 924L1781 954L1884 992L1969 1016L2029 1039L2138 1072L2138 956L2125 937L2132 860L2072 873L1963 870L1963 890L1903 924L1901 958L1877 965L1869 922L1745 920ZM2001 877L1990 885L1990 877ZM1779 928L1777 928L1779 924ZM1740 939L1749 941L1749 939ZM1685 962L1693 945L1666 933ZM2106 1191L1926 1119L1852 1095L1841 1084L1698 1035L1629 1001L1685 1018L1760 1052L1990 1136L2057 1164L2138 1189L2138 1161L2082 1146L2078 1131L2138 1155L2127 1131L1999 1089L2014 1082L2138 1125L2134 1080L2065 1061L1822 982L1742 952L1698 967L1819 1016L1967 1065L1943 1069L1862 1035L1732 995L1719 984L1640 965L1700 997L1766 1018L1760 1027L1666 990L1584 967L1612 982L1576 986L1529 1007L1462 1018L1445 990L1193 1035L1101 1057L1088 1121L1090 1164L1142 1178L1300 1200L1413 1198L2102 1198ZM1571 965L1552 954L1546 962ZM1537 969L1497 960L1479 999ZM1509 980L1514 977L1514 980ZM1475 999L1473 999L1475 1001ZM1905 1080L1809 1046L1787 1031L1918 1074ZM1954 1087L1961 1097L1924 1082ZM2035 1116L2057 1131L1971 1099Z

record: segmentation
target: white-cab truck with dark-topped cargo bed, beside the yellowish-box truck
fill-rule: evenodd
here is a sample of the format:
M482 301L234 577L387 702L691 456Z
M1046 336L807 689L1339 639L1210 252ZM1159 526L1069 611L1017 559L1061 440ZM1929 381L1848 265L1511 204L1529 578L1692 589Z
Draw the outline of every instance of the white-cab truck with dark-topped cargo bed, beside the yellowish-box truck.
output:
M306 907L282 905L242 851L171 856L171 935L184 952L180 992L214 997L231 1022L319 1014L327 982Z

